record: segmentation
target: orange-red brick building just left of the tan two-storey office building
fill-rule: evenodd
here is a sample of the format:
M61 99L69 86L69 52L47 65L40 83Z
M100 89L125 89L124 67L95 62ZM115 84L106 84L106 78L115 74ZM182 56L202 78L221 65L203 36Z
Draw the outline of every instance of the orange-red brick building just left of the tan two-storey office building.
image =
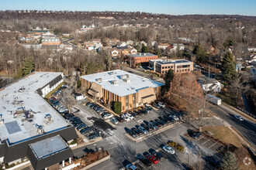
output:
M157 55L151 53L127 54L126 57L130 66L136 66L139 63L148 63L150 59L158 58Z

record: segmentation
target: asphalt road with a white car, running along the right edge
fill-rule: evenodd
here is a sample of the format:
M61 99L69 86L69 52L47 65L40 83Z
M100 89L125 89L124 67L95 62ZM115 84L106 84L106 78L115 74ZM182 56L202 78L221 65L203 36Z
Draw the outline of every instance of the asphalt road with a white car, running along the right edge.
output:
M209 104L208 108L223 119L223 121L226 121L237 131L239 131L240 134L242 134L244 138L247 138L247 140L250 141L251 144L256 148L256 124L254 124L254 122L248 120L246 117L244 117L244 121L238 121L234 115L239 114L234 110L230 110L228 107L222 105L213 106L212 104Z

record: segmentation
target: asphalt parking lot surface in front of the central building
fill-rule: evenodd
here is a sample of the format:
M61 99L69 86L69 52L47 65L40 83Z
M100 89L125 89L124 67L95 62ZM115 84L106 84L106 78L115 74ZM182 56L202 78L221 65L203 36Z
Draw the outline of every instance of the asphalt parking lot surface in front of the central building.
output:
M101 169L103 167L109 169L123 168L122 162L124 160L137 162L135 158L137 153L144 153L144 151L148 151L150 148L159 150L164 155L164 158L157 164L152 164L150 167L146 167L142 162L137 162L136 165L138 168L169 169L172 167L171 169L181 169L185 168L185 164L188 162L190 164L197 162L199 151L206 155L213 155L216 153L216 149L220 147L219 144L204 136L198 139L186 136L187 130L192 127L183 121L175 121L176 123L180 123L172 123L173 126L171 128L160 128L160 131L157 130L159 133L156 131L157 133L155 134L149 133L139 136L138 139L142 138L142 140L136 143L131 140L132 137L126 133L126 129L136 128L141 124L147 124L146 122L155 121L159 117L167 116L175 110L168 107L160 107L158 109L151 105L154 110L150 110L147 114L141 114L139 117L135 117L130 121L113 124L111 121L103 119L94 109L86 106L86 102L87 100L75 101L71 107L71 113L75 117L79 117L88 127L99 131L102 141L74 149L74 156L79 158L85 154L85 151L97 151L99 148L106 149L111 155L110 161L102 162L90 169ZM178 149L174 148L175 155L169 155L163 151L161 145L168 145L167 142L170 140L184 146L185 151L178 151Z

